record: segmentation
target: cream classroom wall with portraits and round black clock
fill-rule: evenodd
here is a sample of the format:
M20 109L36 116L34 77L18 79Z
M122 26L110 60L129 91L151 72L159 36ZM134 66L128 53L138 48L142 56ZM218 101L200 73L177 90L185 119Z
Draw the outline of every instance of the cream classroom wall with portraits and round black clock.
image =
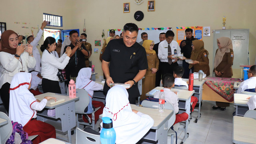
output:
M130 2L130 13L123 13L123 3L127 2ZM172 27L175 34L177 26L210 26L212 31L222 29L222 16L226 16L226 29L250 29L250 64L254 64L255 0L155 0L155 12L147 11L147 2L148 0L144 0L142 4L136 5L134 0L5 0L1 1L1 5L7 6L0 9L0 21L7 22L7 29L23 32L14 21L24 20L33 26L39 24L40 27L42 13L45 12L63 16L62 29L79 28L81 33L86 19L87 41L92 44L93 49L99 49L98 53L93 52L90 57L98 78L103 75L99 60L102 47L94 46L94 40L102 40L103 43L102 30L107 35L108 29L122 29L124 24L133 22L139 28ZM34 6L29 7L30 3ZM13 8L12 11L10 7ZM134 20L134 12L137 10L144 12L144 19L140 22ZM28 17L24 17L26 14ZM210 53L209 65L212 71L213 33L210 37L203 37L203 41L205 49Z

